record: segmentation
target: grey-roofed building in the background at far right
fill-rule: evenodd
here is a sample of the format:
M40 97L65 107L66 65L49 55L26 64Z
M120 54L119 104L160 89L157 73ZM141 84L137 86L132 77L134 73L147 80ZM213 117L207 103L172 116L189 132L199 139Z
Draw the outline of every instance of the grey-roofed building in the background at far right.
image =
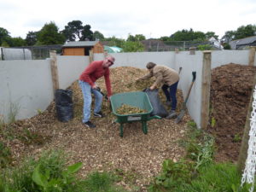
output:
M250 46L256 46L256 36L230 41L231 49L247 49Z

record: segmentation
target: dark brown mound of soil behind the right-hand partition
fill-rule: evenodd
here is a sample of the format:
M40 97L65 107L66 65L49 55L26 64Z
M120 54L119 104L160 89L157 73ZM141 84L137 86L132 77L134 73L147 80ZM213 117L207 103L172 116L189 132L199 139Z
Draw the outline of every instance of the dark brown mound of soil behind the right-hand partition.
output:
M217 161L236 162L256 67L230 63L212 69L211 115L207 131L217 143Z

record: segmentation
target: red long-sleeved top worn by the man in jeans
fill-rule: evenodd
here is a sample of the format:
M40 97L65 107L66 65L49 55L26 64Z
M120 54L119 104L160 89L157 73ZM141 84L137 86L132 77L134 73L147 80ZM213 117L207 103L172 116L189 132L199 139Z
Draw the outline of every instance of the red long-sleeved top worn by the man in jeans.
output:
M89 66L84 69L84 72L80 75L79 80L87 82L90 86L93 86L96 79L104 76L105 84L108 91L108 96L112 96L111 84L109 79L109 68L102 67L103 61L92 61Z

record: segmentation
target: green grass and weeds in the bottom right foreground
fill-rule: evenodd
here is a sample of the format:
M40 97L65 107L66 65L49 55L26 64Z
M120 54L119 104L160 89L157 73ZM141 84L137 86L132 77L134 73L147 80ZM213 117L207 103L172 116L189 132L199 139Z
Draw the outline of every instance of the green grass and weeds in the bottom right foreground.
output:
M149 192L246 192L249 184L241 185L241 173L231 163L214 163L214 139L189 122L187 150L183 160L165 160L162 171L148 187Z

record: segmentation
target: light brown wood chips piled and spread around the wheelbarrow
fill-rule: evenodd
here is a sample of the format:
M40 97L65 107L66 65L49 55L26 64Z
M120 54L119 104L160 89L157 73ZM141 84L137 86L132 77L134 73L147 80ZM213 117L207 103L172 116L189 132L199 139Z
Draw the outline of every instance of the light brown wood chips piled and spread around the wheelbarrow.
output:
M154 81L134 82L134 79L147 73L146 70L136 67L114 67L110 73L113 94L143 90ZM104 79L98 79L97 84L106 93ZM147 135L143 133L141 122L127 123L124 125L124 137L119 137L119 124L114 123L116 117L109 108L109 102L104 100L102 103L102 112L107 116L102 119L92 117L96 129L87 128L81 123L83 97L78 82L74 82L70 88L73 90L74 105L72 120L66 123L58 121L55 103L52 102L44 113L10 125L10 129L20 132L20 135L24 135L25 130L30 131L32 139L26 134L23 139L9 139L8 142L4 140L6 137L0 137L11 148L14 163L26 156L37 156L44 150L64 149L70 154L69 163L83 162L81 176L96 170L119 169L136 175L132 184L139 187L140 191L145 191L150 179L160 172L163 160L177 161L183 157L184 150L178 141L183 139L187 130L186 124L190 120L187 113L178 125L174 119L148 121ZM160 98L164 101L162 90ZM177 102L179 111L183 102L180 90L177 91ZM122 181L120 184L129 189L129 182L131 180Z

